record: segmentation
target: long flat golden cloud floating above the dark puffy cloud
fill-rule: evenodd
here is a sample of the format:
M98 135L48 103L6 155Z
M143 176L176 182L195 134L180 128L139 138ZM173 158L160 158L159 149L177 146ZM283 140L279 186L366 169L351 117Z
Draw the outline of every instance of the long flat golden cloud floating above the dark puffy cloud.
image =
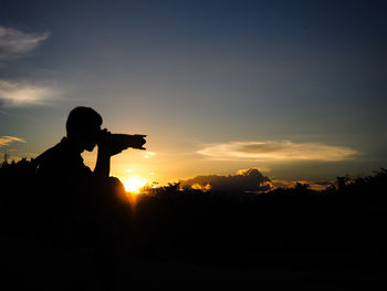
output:
M339 162L353 158L357 150L318 143L230 142L211 144L196 152L218 160L322 160Z

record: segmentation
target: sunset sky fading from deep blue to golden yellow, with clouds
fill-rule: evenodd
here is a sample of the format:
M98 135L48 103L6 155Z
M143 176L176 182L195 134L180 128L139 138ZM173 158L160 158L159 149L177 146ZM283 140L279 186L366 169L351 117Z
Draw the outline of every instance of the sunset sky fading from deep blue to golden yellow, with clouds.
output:
M90 106L113 133L148 135L112 158L123 180L372 174L387 167L386 8L0 0L0 153L36 157Z

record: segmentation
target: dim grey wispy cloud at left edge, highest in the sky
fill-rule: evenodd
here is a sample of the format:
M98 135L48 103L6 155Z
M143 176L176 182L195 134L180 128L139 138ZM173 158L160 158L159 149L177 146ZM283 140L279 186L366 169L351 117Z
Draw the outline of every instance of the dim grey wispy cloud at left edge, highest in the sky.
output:
M28 33L0 25L0 60L24 55L49 37L49 32Z

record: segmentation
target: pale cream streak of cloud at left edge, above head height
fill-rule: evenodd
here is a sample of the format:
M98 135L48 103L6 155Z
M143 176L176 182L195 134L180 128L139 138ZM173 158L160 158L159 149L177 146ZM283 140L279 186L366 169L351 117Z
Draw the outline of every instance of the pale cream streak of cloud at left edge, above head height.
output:
M50 87L0 80L0 105L4 107L48 105L55 95Z

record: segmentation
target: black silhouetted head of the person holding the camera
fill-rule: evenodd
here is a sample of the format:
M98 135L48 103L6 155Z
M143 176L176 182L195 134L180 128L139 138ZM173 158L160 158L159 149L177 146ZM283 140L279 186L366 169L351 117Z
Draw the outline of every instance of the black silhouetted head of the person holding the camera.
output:
M95 147L102 125L102 116L90 107L75 107L66 122L67 138L90 152Z

